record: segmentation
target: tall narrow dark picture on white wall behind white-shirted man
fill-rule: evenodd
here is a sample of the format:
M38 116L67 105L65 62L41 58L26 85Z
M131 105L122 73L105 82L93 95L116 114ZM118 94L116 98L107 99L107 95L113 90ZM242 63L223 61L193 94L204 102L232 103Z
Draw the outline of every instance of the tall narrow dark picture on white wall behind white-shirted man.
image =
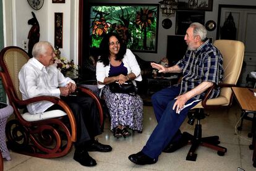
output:
M54 48L62 47L63 43L63 13L55 12L54 13Z

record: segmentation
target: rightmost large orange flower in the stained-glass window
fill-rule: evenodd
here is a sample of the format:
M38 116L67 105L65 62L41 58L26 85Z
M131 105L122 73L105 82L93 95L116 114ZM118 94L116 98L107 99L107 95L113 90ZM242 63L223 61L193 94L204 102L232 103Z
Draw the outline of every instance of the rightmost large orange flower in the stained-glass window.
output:
M140 8L140 11L137 11L135 23L137 23L137 25L140 25L142 29L149 27L153 20L153 10Z

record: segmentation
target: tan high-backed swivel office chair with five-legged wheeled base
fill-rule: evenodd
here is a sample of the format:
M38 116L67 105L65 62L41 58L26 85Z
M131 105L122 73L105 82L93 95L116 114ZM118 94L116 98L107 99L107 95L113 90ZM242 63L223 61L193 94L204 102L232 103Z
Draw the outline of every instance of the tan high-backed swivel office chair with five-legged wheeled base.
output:
M220 96L218 96L218 98L208 99L208 96L210 96L214 88L214 86L212 86L208 89L205 98L193 107L192 112L188 114L189 123L193 125L194 120L197 119L197 124L195 125L194 135L184 132L184 135L189 138L189 144L192 144L186 157L187 161L196 161L197 154L195 151L200 145L218 151L219 156L224 156L225 152L227 152L226 148L218 145L220 144L219 136L202 138L202 125L200 124L200 120L204 119L206 115L203 109L216 109L231 106L233 98L231 86L236 86L242 69L244 43L234 40L216 40L213 44L223 55L224 78L222 83L215 85L221 88Z

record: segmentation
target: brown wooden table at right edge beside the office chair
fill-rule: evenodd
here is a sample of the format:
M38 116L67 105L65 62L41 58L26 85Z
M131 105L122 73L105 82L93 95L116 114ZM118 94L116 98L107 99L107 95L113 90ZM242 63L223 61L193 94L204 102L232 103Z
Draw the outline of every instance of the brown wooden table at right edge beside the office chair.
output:
M254 113L256 114L256 97L254 93L250 90L256 91L256 89L250 88L242 88L242 87L233 87L231 88L234 95L236 96L239 105L241 106L242 112L245 113ZM252 156L252 161L254 167L256 167L256 117L252 120L252 127L254 127L254 135L252 138L252 145L250 145L250 149L254 149L254 154Z

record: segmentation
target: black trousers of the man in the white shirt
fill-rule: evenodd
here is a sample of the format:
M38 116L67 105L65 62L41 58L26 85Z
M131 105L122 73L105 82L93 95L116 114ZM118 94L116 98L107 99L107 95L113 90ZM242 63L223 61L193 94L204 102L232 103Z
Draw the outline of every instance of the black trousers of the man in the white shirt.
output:
M94 140L96 135L100 135L99 115L96 109L95 101L88 96L68 96L61 97L70 107L77 123L77 141L75 146L82 145L86 141ZM46 111L63 109L54 104Z

